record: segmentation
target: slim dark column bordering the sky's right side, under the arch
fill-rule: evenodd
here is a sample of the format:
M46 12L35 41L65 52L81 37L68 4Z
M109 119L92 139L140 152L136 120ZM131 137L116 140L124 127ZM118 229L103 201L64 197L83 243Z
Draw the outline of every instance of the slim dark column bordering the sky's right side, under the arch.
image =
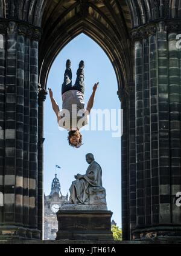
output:
M135 177L135 84L127 83L118 91L123 110L121 137L122 240L131 239L136 222Z

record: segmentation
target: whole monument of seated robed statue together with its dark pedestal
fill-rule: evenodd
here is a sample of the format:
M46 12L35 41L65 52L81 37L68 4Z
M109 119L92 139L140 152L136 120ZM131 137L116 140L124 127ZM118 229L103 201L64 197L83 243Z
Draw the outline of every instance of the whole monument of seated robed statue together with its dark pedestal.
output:
M89 164L86 174L75 175L75 181L69 189L69 201L57 212L57 240L113 240L110 221L112 212L107 211L101 166L94 160L92 153L86 155L86 161Z

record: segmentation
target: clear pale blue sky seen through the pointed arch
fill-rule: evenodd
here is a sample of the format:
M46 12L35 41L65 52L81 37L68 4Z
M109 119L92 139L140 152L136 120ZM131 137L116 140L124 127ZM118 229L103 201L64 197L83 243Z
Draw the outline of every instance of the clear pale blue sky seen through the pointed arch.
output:
M85 106L92 93L92 87L99 81L95 95L94 109L120 109L116 95L118 84L112 63L101 47L92 39L81 34L69 42L59 53L48 76L47 87L54 93L54 98L62 108L61 85L65 72L66 59L72 62L72 83L75 82L78 64L81 59L85 62L84 83ZM91 113L90 113L91 115ZM51 182L55 175L60 180L63 195L69 192L69 187L77 173L84 174L88 164L86 153L93 153L95 160L103 169L103 186L107 193L107 207L113 212L112 219L121 227L121 138L112 138L111 131L82 131L83 146L74 149L68 145L68 132L60 131L57 126L49 95L45 101L44 120L44 192L49 195Z

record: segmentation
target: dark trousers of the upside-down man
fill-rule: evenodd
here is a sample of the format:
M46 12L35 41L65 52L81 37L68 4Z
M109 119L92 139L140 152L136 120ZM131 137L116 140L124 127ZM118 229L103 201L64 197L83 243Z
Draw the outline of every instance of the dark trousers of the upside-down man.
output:
M72 86L72 72L71 69L68 68L65 70L64 81L62 84L62 94L68 92L68 90L78 90L79 92L84 94L84 70L77 70L77 79L75 81L74 86Z

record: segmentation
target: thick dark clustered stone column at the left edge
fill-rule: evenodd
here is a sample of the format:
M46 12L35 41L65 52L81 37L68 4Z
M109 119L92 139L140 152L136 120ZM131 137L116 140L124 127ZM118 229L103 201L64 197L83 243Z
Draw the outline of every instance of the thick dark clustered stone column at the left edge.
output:
M0 23L0 238L40 238L37 227L37 84L40 32ZM3 195L3 200L1 200Z

